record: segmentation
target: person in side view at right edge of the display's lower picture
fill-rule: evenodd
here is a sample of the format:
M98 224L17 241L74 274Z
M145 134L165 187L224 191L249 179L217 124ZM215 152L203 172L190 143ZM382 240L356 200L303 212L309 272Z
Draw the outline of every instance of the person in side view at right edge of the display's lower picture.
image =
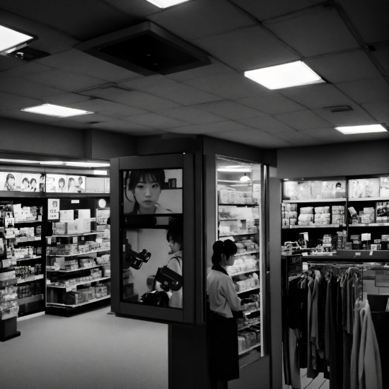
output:
M170 228L166 234L169 242L170 252L174 256L170 258L168 268L182 276L182 234L177 228ZM182 288L173 291L169 300L170 308L182 308Z

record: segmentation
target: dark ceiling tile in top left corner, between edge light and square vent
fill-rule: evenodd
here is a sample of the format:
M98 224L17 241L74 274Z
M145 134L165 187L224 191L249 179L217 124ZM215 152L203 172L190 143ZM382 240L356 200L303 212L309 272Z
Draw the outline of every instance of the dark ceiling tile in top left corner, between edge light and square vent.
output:
M66 0L1 0L1 8L50 25L79 40L112 33L135 22L134 18L105 4L105 1L83 0L69 4Z

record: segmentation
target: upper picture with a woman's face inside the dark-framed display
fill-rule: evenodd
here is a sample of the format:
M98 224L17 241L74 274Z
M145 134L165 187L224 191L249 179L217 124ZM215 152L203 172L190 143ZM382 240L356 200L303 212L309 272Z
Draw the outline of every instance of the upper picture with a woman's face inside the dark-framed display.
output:
M182 214L182 169L123 172L126 215Z

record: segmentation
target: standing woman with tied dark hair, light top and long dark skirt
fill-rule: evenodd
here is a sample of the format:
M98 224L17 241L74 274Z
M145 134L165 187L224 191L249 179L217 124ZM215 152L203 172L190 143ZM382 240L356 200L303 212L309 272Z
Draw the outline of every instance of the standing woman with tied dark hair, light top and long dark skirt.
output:
M209 308L209 372L212 388L227 388L227 382L239 378L238 325L233 312L240 306L233 280L226 272L232 266L236 244L232 240L217 240L213 246L211 272L207 276Z

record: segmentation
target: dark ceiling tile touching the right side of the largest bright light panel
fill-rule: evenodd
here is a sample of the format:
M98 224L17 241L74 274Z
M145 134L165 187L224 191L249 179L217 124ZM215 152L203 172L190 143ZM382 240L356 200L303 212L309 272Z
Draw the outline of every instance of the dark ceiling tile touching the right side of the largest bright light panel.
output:
M305 59L304 62L332 83L371 79L381 75L363 50Z

